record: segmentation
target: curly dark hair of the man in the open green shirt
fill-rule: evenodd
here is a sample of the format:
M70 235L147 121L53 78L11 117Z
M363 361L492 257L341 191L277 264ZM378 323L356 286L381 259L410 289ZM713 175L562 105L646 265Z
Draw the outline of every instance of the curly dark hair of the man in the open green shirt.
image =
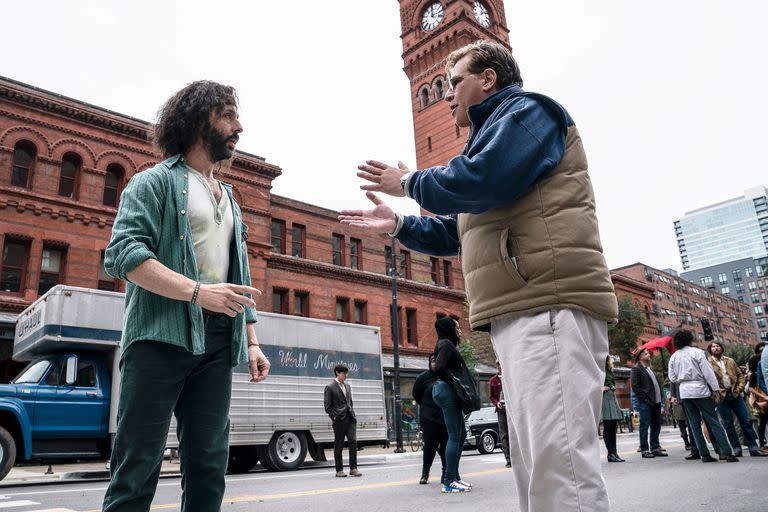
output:
M192 82L157 112L157 124L152 131L155 146L163 158L186 154L210 126L211 114L237 103L234 87L210 80Z

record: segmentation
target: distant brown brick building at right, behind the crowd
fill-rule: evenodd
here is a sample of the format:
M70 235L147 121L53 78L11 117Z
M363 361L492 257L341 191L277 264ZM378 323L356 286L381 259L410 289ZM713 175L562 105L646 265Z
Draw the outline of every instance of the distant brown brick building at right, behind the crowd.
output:
M629 277L653 287L652 304L645 304L646 323L657 337L669 333L681 323L704 339L701 319L709 320L715 339L724 343L753 344L758 333L749 305L688 282L674 271L662 271L634 263L611 270L614 275ZM618 292L618 289L617 289ZM650 331L646 335L650 335Z

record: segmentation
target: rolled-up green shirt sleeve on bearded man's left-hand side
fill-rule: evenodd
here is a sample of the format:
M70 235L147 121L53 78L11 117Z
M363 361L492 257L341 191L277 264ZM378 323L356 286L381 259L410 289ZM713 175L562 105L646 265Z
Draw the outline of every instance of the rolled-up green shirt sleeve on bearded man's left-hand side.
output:
M117 279L148 259L157 259L163 204L162 178L140 172L131 178L120 196L112 226L112 238L104 251L104 270Z

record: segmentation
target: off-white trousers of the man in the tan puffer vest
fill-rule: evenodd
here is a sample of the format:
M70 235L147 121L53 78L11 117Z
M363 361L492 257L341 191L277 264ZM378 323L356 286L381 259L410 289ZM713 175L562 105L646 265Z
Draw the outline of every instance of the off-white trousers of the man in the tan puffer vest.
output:
M522 512L608 512L600 470L606 322L578 310L491 323Z

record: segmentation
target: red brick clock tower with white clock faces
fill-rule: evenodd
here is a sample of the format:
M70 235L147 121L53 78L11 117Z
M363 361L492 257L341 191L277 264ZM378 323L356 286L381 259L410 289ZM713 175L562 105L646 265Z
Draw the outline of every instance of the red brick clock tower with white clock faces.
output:
M416 166L445 165L461 153L467 129L453 122L444 101L445 59L478 39L509 46L502 0L399 0L403 70L411 81Z

